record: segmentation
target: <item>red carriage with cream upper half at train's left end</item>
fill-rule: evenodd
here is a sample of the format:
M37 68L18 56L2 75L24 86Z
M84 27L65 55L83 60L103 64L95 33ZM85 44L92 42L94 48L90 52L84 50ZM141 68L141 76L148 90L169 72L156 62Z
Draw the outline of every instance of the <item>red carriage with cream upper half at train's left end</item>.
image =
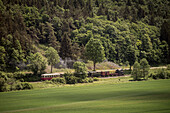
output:
M63 73L51 73L51 74L42 74L41 80L51 80L55 77L62 77Z

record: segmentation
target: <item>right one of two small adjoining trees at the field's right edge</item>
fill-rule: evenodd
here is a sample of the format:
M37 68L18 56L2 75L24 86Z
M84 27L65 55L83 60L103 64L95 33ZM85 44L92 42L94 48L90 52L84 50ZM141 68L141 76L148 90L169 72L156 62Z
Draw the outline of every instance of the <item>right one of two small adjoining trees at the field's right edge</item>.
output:
M149 74L149 70L150 70L150 65L148 64L148 61L143 58L140 61L140 69L141 69L141 76L144 79L148 79L148 74Z

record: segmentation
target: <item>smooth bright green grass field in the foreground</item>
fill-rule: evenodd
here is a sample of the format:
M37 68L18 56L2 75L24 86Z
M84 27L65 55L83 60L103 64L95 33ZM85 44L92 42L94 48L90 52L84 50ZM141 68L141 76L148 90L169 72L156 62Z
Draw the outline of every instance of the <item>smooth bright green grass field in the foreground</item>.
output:
M170 80L4 92L0 93L0 112L170 113Z

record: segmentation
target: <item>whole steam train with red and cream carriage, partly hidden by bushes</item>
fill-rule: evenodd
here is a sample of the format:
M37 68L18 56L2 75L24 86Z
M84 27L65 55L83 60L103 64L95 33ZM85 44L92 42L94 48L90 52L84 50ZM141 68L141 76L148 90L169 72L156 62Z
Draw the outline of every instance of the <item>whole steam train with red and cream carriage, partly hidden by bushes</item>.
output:
M55 77L62 77L64 75L63 72L61 73L51 73L51 74L42 74L41 80L51 80ZM110 76L123 76L123 70L101 70L101 71L88 71L88 77L110 77Z

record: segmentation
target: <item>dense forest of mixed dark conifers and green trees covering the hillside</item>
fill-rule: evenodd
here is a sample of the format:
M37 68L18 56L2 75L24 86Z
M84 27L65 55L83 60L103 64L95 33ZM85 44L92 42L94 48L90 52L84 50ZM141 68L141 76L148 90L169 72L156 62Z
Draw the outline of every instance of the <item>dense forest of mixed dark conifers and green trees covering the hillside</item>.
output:
M83 59L90 38L119 65L170 62L169 0L0 0L0 70L21 70L38 45Z

